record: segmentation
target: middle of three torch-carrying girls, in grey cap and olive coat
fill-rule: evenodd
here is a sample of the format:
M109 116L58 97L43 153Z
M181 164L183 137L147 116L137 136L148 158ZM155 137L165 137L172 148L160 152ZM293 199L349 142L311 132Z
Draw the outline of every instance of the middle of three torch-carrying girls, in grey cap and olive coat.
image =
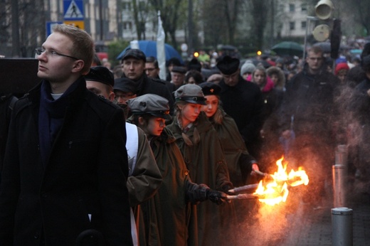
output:
M175 99L174 120L167 128L174 134L191 180L228 193L233 183L229 178L218 134L206 114L201 112L202 105L206 105L201 87L182 85L175 91ZM211 203L201 203L192 209L197 218L199 245L223 245L227 239L220 232L228 235L228 228L234 222L233 204L217 207Z

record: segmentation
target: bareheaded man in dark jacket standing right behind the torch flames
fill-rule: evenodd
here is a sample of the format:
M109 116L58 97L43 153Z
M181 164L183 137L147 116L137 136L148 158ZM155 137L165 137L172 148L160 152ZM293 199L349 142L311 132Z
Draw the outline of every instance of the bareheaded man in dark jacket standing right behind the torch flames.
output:
M281 139L295 136L295 144L290 146L285 157L292 167L302 166L310 177L312 186L307 190L309 195L303 198L313 208L322 208L327 194L325 183L332 183L334 124L337 121L335 85L339 85L339 80L327 71L322 49L312 46L303 70L287 84L279 112Z

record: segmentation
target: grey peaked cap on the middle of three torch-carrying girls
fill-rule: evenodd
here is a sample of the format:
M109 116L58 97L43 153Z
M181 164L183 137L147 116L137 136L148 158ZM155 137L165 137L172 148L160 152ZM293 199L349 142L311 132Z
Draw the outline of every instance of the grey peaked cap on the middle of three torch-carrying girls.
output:
M201 87L195 84L181 85L175 92L176 102L185 101L197 105L206 105L206 98L203 95Z

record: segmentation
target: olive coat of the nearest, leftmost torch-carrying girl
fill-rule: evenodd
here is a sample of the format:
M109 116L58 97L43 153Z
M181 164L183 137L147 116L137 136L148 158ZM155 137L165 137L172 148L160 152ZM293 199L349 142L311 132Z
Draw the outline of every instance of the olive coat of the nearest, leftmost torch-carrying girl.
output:
M191 203L206 200L208 186L193 183L169 129L150 140L163 182L153 198L142 204L146 242L140 245L197 245ZM189 228L188 228L189 227ZM189 231L190 230L190 231Z

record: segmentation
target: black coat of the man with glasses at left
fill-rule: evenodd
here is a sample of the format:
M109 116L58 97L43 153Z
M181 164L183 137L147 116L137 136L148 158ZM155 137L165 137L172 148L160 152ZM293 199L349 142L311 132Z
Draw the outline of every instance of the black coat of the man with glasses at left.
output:
M75 83L46 164L41 85L16 102L0 186L0 245L75 245L88 229L107 245L132 245L122 109L88 91L83 77Z

